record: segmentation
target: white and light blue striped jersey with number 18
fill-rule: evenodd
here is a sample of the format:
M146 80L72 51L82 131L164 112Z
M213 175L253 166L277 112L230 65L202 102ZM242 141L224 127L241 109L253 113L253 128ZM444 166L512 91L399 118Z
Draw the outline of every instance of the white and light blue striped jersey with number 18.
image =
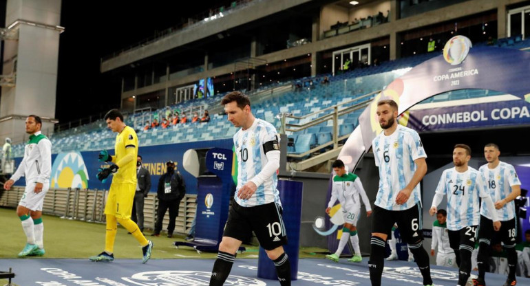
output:
M486 179L485 184L489 188L489 195L494 203L508 197L511 192L511 186L520 185L519 177L517 177L516 169L508 163L500 162L498 166L493 169L488 168L487 164L478 168ZM480 206L480 214L491 219L491 214L488 213L486 203L483 201ZM516 217L516 204L513 201L505 204L503 208L497 210L497 216L500 221L509 221Z

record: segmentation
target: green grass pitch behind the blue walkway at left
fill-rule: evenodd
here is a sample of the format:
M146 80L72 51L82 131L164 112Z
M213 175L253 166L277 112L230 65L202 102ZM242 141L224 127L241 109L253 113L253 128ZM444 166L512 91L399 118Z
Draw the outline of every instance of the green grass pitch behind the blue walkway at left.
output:
M50 215L43 215L45 259L88 259L89 256L99 254L105 247L105 224L89 223L61 219ZM0 225L3 228L3 245L0 248L0 259L16 259L17 254L25 245L26 237L19 218L14 209L0 208ZM173 246L174 241L184 241L184 236L150 236L146 238L154 243L151 259L215 259L217 253L202 252L198 254L193 248ZM238 259L256 259L259 248L255 245L244 245L246 252L237 254ZM322 248L300 248L300 258L324 258L327 252ZM116 242L114 243L114 257L116 259L141 259L142 248L133 236L127 234L125 228L118 227ZM38 257L32 259L40 259ZM1 270L1 269L0 269ZM8 270L1 270L8 271ZM3 285L3 284L2 284Z

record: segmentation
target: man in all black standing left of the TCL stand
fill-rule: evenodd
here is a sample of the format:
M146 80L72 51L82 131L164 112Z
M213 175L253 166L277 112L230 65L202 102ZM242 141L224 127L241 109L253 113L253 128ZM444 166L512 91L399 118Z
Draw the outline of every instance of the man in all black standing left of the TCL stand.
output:
M175 230L175 220L178 216L178 207L180 200L186 194L186 185L180 173L175 170L175 163L173 161L166 162L166 173L160 177L158 181L157 197L158 210L156 212L155 230L151 236L160 236L162 230L162 221L164 215L169 209L169 225L167 225L167 237L173 237L173 230Z

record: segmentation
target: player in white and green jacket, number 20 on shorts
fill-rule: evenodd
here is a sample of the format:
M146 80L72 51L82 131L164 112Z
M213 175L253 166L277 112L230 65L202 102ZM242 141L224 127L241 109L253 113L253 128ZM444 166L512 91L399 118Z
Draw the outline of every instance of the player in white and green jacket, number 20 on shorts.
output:
M372 214L372 208L370 207L370 201L364 191L361 179L353 173L348 173L341 160L337 160L332 164L333 171L335 171L335 177L333 177L333 186L331 189L331 199L326 208L326 213L329 214L331 207L335 204L335 201L339 199L341 208L344 216L344 226L342 228L342 236L339 241L339 247L334 254L326 255L327 259L338 262L341 256L342 250L348 243L348 239L352 241L354 256L348 261L361 262L361 250L359 249L359 236L357 236L357 220L359 220L359 212L361 212L361 200L363 200L366 208L366 216L370 217Z

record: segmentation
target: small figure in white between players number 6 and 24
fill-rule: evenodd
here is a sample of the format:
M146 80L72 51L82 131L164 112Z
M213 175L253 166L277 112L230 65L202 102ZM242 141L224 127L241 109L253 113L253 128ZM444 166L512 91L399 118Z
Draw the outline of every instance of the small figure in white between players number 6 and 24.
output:
M449 232L447 231L447 211L437 210L436 221L432 224L432 243L431 256L434 256L434 250L438 246L436 254L436 265L453 267L456 256L454 250L449 245Z

